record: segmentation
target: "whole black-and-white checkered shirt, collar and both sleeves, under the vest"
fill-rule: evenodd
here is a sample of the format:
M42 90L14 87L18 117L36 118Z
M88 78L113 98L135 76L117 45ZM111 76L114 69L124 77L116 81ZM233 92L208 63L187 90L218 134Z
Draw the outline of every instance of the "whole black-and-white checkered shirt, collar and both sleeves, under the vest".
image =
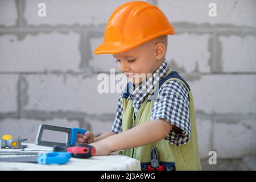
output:
M158 84L160 80L166 75L170 69L166 60L150 77L139 85L132 85L129 93L128 100L133 100L132 106L134 107L134 117L136 117L139 107L151 89ZM118 98L117 113L115 115L114 124L112 126L113 133L122 132L122 94ZM189 97L187 89L181 82L171 80L162 85L159 89L159 95L156 98L151 110L150 120L166 119L167 122L179 127L183 130L181 133L176 134L174 130L164 138L171 144L179 146L189 141L191 135L191 122L189 118Z

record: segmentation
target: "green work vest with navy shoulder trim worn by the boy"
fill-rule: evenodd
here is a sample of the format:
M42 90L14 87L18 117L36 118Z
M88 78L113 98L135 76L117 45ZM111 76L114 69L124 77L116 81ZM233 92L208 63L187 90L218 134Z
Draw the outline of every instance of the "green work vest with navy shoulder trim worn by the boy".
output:
M191 138L188 143L181 144L180 146L175 146L170 144L167 140L162 139L158 142L147 144L146 146L129 148L122 151L122 155L129 156L134 159L138 159L141 162L142 170L146 170L147 166L151 164L151 148L156 147L159 153L159 161L161 165L164 165L164 168L167 170L200 170L200 156L199 156L199 147L197 142L197 130L196 130L196 119L195 119L195 109L194 102L191 90L187 82L179 76L177 72L169 69L166 76L159 81L159 85L155 86L156 89L170 80L180 81L188 91L189 94L189 115L191 121ZM150 121L151 110L154 105L155 99L157 98L156 91L151 90L148 94L141 107L137 112L136 118L134 118L134 108L131 105L133 100L127 100L129 97L129 89L131 82L126 86L125 91L122 93L122 130L126 131L131 129L134 126L141 125L142 123Z

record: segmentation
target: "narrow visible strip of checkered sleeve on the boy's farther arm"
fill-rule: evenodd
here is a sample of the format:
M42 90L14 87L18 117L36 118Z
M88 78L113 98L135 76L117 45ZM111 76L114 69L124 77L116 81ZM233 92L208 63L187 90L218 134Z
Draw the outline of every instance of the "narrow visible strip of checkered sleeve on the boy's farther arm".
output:
M112 132L115 134L122 132L122 116L123 116L123 107L122 107L122 94L119 96L117 101L117 113L115 114L114 123L112 126Z

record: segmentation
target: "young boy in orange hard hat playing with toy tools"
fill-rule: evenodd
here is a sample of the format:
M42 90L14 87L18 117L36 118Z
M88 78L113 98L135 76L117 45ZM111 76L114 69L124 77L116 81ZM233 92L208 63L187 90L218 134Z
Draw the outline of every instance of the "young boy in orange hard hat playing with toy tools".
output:
M96 155L123 150L142 170L201 169L192 93L165 60L172 34L166 16L147 2L114 11L94 53L112 53L130 82L118 99L112 131L96 138L88 131L77 142L96 147Z

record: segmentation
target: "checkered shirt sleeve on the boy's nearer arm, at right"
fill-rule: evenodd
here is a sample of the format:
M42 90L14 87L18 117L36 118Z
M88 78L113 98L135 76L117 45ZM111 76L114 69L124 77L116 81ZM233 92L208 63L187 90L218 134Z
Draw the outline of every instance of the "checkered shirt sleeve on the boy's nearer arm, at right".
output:
M189 141L191 136L189 96L185 86L177 80L168 81L159 90L159 96L153 105L150 120L161 118L182 130L179 134L171 130L164 138L165 140L175 146Z

